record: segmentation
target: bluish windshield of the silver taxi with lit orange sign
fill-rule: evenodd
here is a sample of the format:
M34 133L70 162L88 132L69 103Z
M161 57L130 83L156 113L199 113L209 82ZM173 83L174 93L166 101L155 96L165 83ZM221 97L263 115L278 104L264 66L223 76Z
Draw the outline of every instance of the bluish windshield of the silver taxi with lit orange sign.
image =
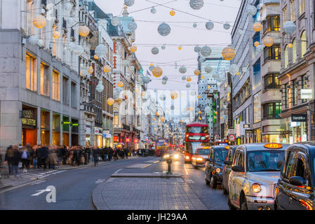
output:
M284 151L248 151L248 172L280 172Z

